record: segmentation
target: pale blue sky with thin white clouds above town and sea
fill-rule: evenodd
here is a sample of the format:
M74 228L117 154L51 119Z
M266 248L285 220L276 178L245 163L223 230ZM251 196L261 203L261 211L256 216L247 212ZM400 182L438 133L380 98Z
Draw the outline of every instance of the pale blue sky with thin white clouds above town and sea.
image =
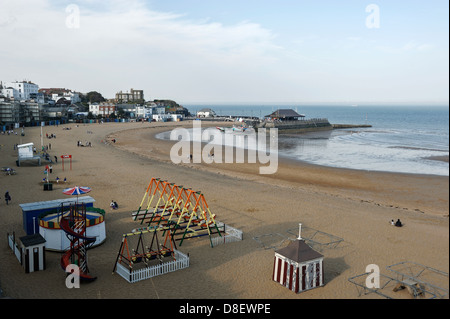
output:
M0 81L178 103L437 103L444 0L0 0Z

